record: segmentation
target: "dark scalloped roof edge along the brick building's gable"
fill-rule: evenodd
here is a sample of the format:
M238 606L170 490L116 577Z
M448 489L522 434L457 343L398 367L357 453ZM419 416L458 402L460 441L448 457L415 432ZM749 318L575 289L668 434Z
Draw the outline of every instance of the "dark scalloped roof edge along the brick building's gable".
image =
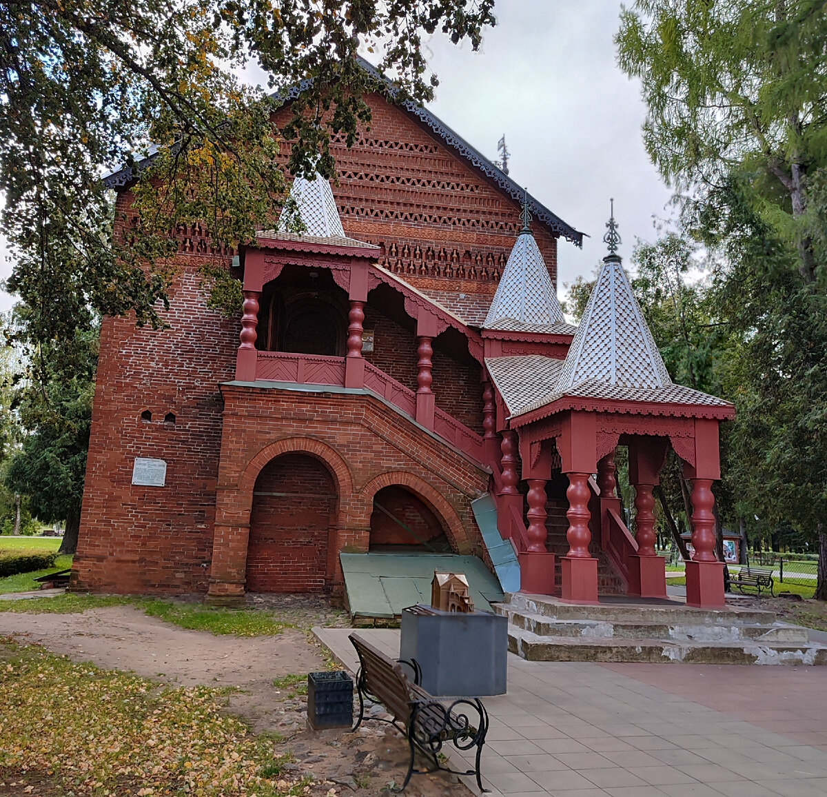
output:
M391 95L395 94L394 87L391 84L390 79L381 74L380 71L377 70L374 65L370 64L369 61L366 61L360 57L359 62L369 74L374 76L376 79L385 81L385 84L389 87L389 93ZM312 81L309 79L301 80L298 84L291 86L283 92L274 94L273 96L280 98L283 103L289 103L290 100L297 98L299 94L308 89L311 82ZM583 233L578 232L575 228L571 227L570 224L566 223L562 220L562 218L557 216L557 214L552 213L552 211L547 209L545 205L538 202L537 199L534 199L531 194L526 195L525 190L517 185L517 183L514 182L509 175L506 175L503 170L501 170L498 166L495 166L479 150L477 150L474 146L471 146L471 144L466 142L466 140L457 132L454 132L450 127L448 127L445 122L442 122L441 119L431 113L428 108L418 105L418 103L415 103L413 100L406 100L399 103L397 107L402 108L420 125L427 127L429 132L432 132L440 140L442 140L442 142L446 144L449 149L460 156L462 161L465 161L473 170L485 175L488 180L493 181L500 188L500 190L504 191L505 194L508 194L516 202L522 203L523 198L525 198L528 202L528 208L531 210L533 217L538 221L543 222L543 224L545 224L552 233L555 235L561 235L577 247L583 246ZM155 153L153 152L150 156L144 158L136 164L136 170L140 171L146 166L149 166L154 159ZM113 170L108 175L104 175L103 185L112 190L127 188L127 186L136 179L136 170L131 166L123 166L120 169Z

